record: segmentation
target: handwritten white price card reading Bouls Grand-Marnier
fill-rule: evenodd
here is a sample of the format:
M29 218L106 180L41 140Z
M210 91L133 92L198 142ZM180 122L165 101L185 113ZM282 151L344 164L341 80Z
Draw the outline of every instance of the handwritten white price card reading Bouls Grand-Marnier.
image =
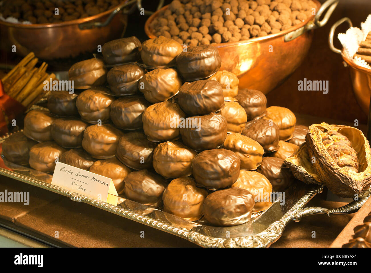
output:
M117 206L118 194L111 178L65 163L55 165L52 184Z

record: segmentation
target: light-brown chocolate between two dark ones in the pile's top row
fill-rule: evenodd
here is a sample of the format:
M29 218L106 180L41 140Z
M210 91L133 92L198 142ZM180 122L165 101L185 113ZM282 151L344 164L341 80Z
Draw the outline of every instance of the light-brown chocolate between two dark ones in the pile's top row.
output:
M176 56L183 51L183 46L173 39L159 36L142 43L140 55L144 64L149 66L173 66Z

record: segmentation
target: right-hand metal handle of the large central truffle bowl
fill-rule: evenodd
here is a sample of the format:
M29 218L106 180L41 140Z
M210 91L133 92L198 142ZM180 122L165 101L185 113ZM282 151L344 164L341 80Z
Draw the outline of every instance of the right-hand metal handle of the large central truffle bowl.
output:
M302 35L303 33L309 30L317 29L318 27L322 27L326 25L326 23L330 19L332 12L334 12L338 4L339 4L339 0L327 0L325 3L321 5L313 21L308 22L305 26L302 26L299 29L296 29L296 30L293 30L292 32L287 33L285 35L285 42L289 42L295 38L298 38L300 35ZM325 11L326 13L324 15L324 18L322 20L319 20Z

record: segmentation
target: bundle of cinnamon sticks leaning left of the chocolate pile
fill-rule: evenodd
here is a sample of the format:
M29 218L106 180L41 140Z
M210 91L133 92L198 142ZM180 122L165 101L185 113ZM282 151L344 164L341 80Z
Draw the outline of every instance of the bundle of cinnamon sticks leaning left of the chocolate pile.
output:
M45 62L39 68L35 67L38 61L35 53L30 52L1 79L4 92L26 108L46 94L43 82L56 78L55 74L49 75L45 72L47 68Z

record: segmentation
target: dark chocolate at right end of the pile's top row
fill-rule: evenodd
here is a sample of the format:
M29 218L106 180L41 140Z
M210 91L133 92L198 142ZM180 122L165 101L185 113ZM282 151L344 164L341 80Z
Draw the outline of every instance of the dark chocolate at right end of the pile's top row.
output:
M212 45L188 46L177 56L178 71L186 81L210 77L220 66L219 51Z

